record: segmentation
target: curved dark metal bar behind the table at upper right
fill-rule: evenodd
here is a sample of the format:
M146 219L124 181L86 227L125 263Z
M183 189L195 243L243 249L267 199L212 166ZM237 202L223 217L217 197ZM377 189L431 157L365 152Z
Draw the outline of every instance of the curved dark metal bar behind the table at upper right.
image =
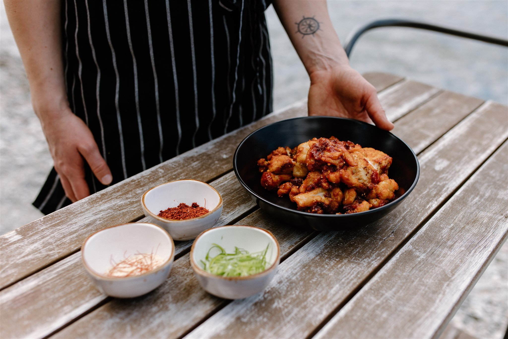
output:
M462 30L447 28L447 27L441 27L437 25L432 25L429 23L424 22L418 22L418 21L410 21L410 20L402 20L402 19L383 19L383 20L376 20L372 21L362 27L360 27L356 32L353 32L347 39L345 43L344 50L347 54L347 56L350 55L351 50L353 49L353 46L355 45L356 41L362 34L367 32L367 30L378 28L378 27L411 27L411 28L420 28L420 29L427 29L427 30L433 30L434 32L444 33L444 34L450 34L462 38L468 38L468 39L474 39L479 40L483 42L488 42L491 44L501 45L508 47L508 40L489 37L485 35L470 33L470 32L463 32Z

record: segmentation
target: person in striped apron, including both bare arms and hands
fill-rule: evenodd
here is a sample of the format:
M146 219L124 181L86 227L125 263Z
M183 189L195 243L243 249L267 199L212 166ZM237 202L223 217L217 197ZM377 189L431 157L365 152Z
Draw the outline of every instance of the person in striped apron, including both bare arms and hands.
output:
M5 0L54 167L50 213L272 111L267 0ZM274 0L310 77L309 115L391 130L326 2Z

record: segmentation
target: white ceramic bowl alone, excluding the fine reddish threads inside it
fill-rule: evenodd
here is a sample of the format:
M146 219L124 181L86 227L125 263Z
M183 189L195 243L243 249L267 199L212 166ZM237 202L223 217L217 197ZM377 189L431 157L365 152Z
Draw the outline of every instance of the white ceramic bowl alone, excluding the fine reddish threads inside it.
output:
M113 263L139 253L153 253L164 264L140 275L106 276ZM138 297L160 286L168 278L174 258L173 239L164 229L149 223L105 228L90 235L81 246L81 259L92 281L102 293L117 298Z

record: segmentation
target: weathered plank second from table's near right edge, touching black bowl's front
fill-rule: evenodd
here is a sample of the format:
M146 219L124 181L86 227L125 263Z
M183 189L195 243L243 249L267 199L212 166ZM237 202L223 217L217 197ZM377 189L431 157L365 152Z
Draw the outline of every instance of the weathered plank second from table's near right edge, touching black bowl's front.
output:
M317 235L262 295L228 304L188 337L311 335L507 137L506 107L483 106L422 153L420 182L400 207L362 229Z

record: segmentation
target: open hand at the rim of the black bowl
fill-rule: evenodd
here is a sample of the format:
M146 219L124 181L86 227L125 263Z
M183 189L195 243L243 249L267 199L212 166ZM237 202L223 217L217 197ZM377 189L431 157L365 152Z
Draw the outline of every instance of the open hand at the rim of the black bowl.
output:
M374 122L377 127L387 131L394 127L377 99L374 86L349 66L310 74L308 109L309 115Z

